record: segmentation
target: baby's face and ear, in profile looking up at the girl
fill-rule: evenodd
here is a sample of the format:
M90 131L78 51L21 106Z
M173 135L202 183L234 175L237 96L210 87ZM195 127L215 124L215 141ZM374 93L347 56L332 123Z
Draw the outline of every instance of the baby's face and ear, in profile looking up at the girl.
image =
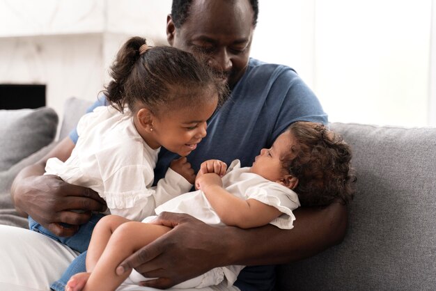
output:
M253 166L251 166L251 173L261 175L272 182L280 182L288 175L281 165L281 159L288 155L292 146L293 136L287 130L274 141L271 148L260 150L260 155L254 159Z

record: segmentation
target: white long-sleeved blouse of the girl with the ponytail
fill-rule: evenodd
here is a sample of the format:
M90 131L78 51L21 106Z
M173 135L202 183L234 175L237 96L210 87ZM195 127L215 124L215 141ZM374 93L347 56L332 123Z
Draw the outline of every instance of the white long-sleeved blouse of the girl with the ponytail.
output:
M141 221L153 215L156 206L192 187L171 169L152 187L159 149L141 138L128 109L120 113L110 106L97 107L79 120L77 132L70 158L49 159L45 174L97 191L111 214Z

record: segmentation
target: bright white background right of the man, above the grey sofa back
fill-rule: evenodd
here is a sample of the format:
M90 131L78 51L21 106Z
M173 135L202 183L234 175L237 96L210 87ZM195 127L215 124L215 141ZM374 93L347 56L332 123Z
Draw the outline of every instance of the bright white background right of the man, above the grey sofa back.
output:
M331 121L436 125L432 3L260 0L253 56L295 68Z

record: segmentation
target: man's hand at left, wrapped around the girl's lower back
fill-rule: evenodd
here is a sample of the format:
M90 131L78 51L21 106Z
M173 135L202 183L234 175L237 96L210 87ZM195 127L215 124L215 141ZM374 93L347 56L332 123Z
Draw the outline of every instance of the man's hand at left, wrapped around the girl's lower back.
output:
M55 235L69 237L86 223L92 211L107 209L93 190L64 182L56 175L30 176L15 185L15 202ZM83 211L83 213L71 210ZM62 226L68 223L71 227Z

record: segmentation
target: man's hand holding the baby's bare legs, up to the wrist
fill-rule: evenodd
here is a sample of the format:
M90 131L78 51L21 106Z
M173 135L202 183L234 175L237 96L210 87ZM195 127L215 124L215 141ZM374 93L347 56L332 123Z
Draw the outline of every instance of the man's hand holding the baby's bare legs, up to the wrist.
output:
M121 262L117 271L132 268L147 278L153 288L169 288L218 266L231 265L231 242L224 228L215 228L189 216L162 212L153 223L169 231Z

